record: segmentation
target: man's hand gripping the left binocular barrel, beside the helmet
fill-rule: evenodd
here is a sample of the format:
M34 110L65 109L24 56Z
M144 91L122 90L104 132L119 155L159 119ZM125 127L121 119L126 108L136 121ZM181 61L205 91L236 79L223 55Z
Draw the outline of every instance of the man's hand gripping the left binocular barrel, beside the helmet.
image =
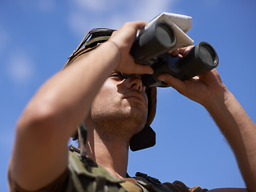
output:
M144 27L146 22L127 22L119 30L115 31L108 41L113 42L121 52L121 62L116 70L125 74L152 74L150 66L140 65L134 62L130 50L136 39L136 32Z

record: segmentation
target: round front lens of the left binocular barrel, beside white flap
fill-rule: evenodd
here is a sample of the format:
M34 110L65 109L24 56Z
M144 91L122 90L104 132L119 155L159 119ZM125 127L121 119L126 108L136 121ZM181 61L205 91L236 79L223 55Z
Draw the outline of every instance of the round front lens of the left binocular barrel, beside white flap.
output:
M165 47L173 46L175 43L173 31L169 30L163 23L156 26L156 38Z

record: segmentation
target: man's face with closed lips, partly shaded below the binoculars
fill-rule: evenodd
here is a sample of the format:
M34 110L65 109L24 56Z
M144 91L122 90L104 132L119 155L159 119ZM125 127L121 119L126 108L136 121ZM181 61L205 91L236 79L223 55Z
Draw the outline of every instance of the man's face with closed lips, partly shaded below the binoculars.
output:
M92 103L92 120L102 123L100 126L130 127L132 135L136 134L148 116L145 90L139 75L124 78L119 72L113 72Z

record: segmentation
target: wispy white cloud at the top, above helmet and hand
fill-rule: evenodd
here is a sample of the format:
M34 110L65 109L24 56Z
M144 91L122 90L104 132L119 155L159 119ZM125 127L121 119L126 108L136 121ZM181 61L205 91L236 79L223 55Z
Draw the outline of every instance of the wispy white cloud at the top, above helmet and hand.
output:
M81 38L95 27L118 29L128 21L149 22L157 14L169 11L177 0L75 0L71 4L68 25Z

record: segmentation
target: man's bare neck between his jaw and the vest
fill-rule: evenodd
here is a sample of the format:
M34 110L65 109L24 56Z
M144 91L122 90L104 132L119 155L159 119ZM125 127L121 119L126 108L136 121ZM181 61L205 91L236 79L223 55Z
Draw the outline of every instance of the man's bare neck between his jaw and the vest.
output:
M95 130L88 131L87 155L104 166L116 178L125 178L128 166L128 142L121 139L108 139Z

